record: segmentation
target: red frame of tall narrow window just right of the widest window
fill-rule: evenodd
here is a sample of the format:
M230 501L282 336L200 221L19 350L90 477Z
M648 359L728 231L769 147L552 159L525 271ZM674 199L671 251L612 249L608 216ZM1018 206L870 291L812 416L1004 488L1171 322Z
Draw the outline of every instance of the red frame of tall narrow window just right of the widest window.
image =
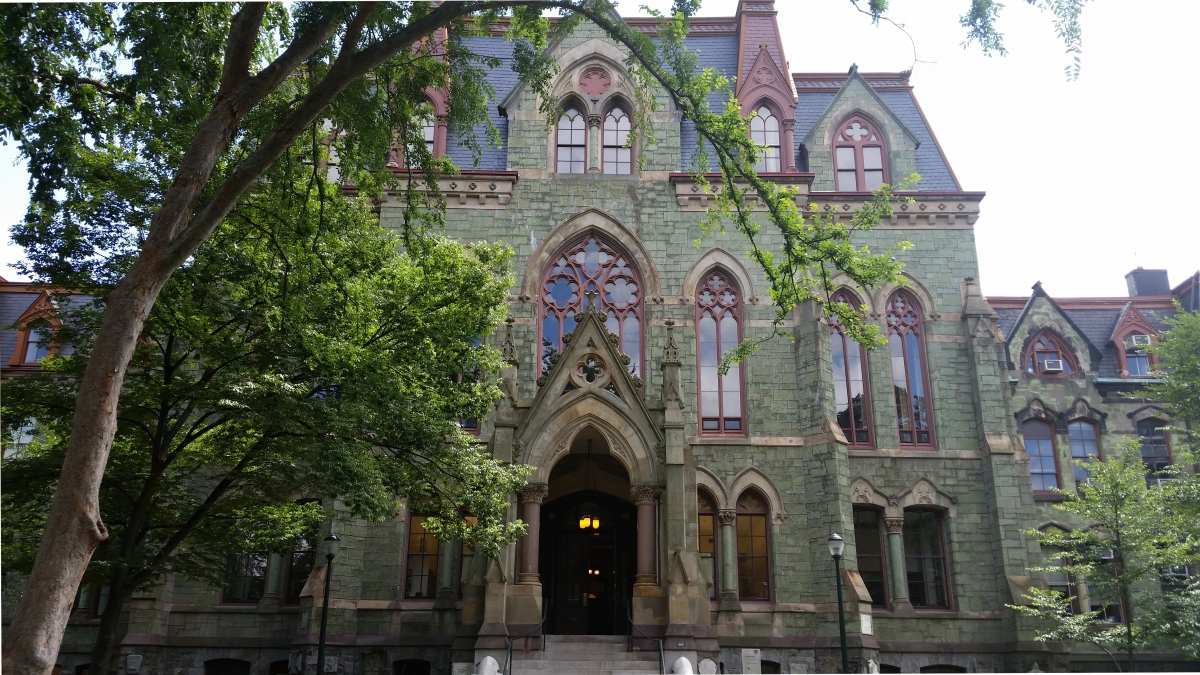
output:
M725 286L722 286L722 287L720 287L718 289L714 289L714 292L715 291L730 291L730 289L732 289L732 292L737 295L737 298L733 300L732 305L724 306L719 301L715 301L715 300L714 300L714 303L712 305L707 305L707 306L706 305L701 305L701 300L700 300L701 293L703 293L706 289L708 289L712 286L710 282L712 282L712 279L714 276L720 276L724 280L724 282L725 282ZM696 395L697 395L697 399L698 399L697 400L697 406L696 406L696 426L697 426L697 431L698 431L698 434L701 436L744 437L744 436L746 436L749 434L749 426L750 425L748 424L748 417L749 416L746 414L748 411L746 411L745 364L743 364L743 363L737 364L738 371L737 371L737 376L736 376L737 377L737 384L738 384L738 388L739 388L739 390L738 390L738 401L739 401L738 405L740 406L740 413L742 413L737 418L738 419L738 424L739 424L739 429L726 429L726 420L734 419L733 417L727 417L725 414L725 382L727 381L727 378L731 375L733 375L732 372L726 374L724 376L722 375L718 375L716 376L716 408L718 408L716 429L709 429L709 430L704 429L704 422L706 422L706 419L712 419L712 417L708 417L708 416L704 414L704 412L706 412L704 411L704 405L703 405L704 392L703 392L702 387L703 387L703 372L704 372L703 369L706 366L704 366L704 364L702 362L702 358L701 358L701 334L700 334L700 321L704 317L704 313L706 312L710 312L714 309L720 309L720 315L713 317L713 319L716 323L716 328L715 328L715 330L716 330L716 362L718 362L718 364L720 364L720 360L725 356L725 352L728 351L725 347L724 342L721 341L721 322L725 319L726 316L733 317L733 322L734 322L734 324L737 325L737 329L738 329L737 341L738 341L738 345L740 345L742 341L745 339L745 327L744 327L744 321L742 318L742 310L744 307L744 305L745 305L745 297L742 294L742 286L738 283L737 277L734 275L730 274L730 271L727 269L725 269L722 267L714 267L714 268L709 269L708 271L706 271L701 276L700 282L696 286L696 298L695 298L695 310L696 310L696 315L695 315L695 319L696 319ZM734 345L734 347L736 346L737 345ZM708 366L708 368L712 368L712 366Z

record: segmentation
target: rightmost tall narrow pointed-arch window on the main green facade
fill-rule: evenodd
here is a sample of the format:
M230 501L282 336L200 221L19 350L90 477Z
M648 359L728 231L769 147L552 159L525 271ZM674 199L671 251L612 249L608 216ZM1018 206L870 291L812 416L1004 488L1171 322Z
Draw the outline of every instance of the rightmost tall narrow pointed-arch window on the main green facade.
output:
M901 446L931 447L932 408L920 306L900 291L888 299L888 353Z

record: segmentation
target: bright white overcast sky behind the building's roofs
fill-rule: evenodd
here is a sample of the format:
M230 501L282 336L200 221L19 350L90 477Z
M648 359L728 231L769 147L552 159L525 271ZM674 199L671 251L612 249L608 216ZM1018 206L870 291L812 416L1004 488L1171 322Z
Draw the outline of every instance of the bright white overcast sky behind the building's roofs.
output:
M1055 297L1126 295L1124 274L1139 265L1166 269L1172 286L1200 269L1200 219L1184 183L1200 156L1200 133L1187 129L1200 109L1200 2L1086 5L1073 82L1049 14L1006 2L998 28L1008 55L988 58L961 47L958 17L968 4L893 0L889 16L907 35L872 26L848 0L775 6L793 72L913 70L962 189L988 193L974 226L985 294L1028 295L1042 281ZM619 2L623 16L641 5L666 10L670 0ZM704 0L701 14L736 8ZM7 227L28 208L28 173L16 161L14 147L0 145L0 275L10 280L20 279L11 263L22 251Z

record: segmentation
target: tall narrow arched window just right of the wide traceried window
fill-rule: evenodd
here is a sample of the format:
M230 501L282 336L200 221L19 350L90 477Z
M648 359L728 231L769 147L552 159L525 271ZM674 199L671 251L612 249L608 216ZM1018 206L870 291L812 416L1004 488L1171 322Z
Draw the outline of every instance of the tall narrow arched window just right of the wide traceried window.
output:
M720 374L721 357L742 342L742 293L732 277L713 270L696 288L696 339L700 342L700 432L745 434L742 364Z

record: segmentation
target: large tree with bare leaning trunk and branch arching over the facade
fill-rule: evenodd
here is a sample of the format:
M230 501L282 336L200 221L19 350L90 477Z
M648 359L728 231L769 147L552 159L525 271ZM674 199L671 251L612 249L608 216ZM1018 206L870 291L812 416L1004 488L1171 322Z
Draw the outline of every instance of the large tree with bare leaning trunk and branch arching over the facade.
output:
M449 124L462 138L496 138L484 114L493 95L485 64L462 40L490 31L508 13L515 67L538 90L550 80L550 37L587 19L631 53L642 103L664 91L692 120L722 173L713 227L727 216L751 237L761 227L744 204L755 195L782 237L781 261L754 244L780 317L797 303L823 300L832 271L863 286L899 279L890 252L850 244L853 228L796 209L793 193L754 172L758 149L736 104L708 109L708 94L732 101L728 80L697 72L683 48L698 0L676 0L659 44L635 34L606 0L281 5L8 5L0 40L0 141L30 161L31 204L14 240L24 270L42 281L95 288L104 312L79 375L62 471L44 534L4 645L6 671L47 673L92 551L108 537L98 494L126 372L143 325L172 275L226 221L247 190L301 137L329 124L342 174L364 195L395 187L384 162L400 131L427 183L449 172L413 143L428 88L448 86ZM551 25L542 17L558 10ZM436 34L449 28L449 37ZM653 138L637 112L634 135ZM311 135L314 165L324 142ZM319 184L318 184L319 185ZM889 189L854 227L890 213ZM408 192L404 240L439 220L437 196ZM874 342L851 307L827 305L842 325Z

